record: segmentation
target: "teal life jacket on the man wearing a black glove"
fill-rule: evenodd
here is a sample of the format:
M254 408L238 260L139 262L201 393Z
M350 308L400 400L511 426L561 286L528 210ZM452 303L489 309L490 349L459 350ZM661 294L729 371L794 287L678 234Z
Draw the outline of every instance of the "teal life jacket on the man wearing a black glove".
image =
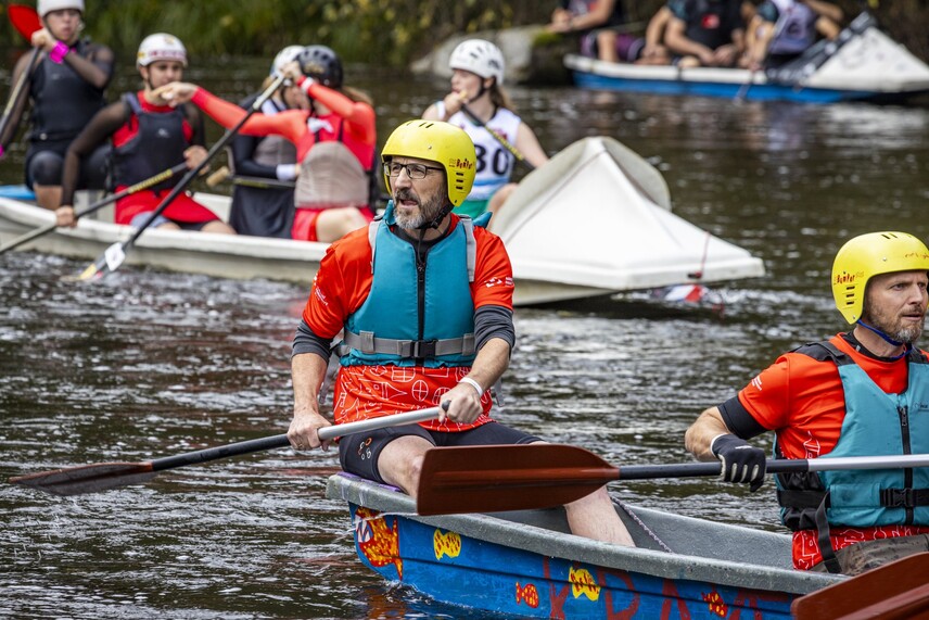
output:
M918 350L907 354L908 384L901 394L885 393L830 342L807 344L797 353L831 360L842 381L845 417L841 434L836 447L822 458L929 453L929 360ZM789 473L775 480L784 524L794 531L818 530L827 566L829 556L835 558L829 526L929 526L926 468Z

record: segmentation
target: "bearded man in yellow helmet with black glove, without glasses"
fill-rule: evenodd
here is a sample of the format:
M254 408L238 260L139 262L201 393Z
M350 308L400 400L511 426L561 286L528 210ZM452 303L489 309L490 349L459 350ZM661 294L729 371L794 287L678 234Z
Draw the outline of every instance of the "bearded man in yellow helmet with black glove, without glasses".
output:
M737 396L703 412L685 438L723 479L761 486L777 458L929 453L929 359L913 343L926 317L929 250L904 232L855 237L836 255L832 296L855 327L781 355ZM778 475L798 569L857 574L929 551L927 469Z

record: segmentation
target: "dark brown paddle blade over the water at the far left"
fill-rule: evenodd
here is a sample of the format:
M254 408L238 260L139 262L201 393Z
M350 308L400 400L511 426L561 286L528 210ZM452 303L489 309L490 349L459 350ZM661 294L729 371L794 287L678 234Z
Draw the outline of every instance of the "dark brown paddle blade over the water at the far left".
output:
M99 463L11 478L10 482L54 495L84 495L142 484L156 476L151 463Z

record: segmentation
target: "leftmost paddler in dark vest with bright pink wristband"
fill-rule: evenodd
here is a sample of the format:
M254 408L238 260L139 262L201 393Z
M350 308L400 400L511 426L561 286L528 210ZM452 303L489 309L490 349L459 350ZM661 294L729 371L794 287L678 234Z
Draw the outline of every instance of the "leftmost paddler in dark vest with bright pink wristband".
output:
M33 35L39 61L28 76L31 129L26 152L26 186L36 202L55 208L61 202L62 165L68 144L106 105L104 91L113 77L113 51L81 39L84 0L39 0L42 28ZM31 54L13 69L13 84L28 71ZM20 126L26 100L11 111L0 144L9 144ZM106 152L101 148L88 157L77 178L78 187L103 189ZM2 148L0 148L2 156Z

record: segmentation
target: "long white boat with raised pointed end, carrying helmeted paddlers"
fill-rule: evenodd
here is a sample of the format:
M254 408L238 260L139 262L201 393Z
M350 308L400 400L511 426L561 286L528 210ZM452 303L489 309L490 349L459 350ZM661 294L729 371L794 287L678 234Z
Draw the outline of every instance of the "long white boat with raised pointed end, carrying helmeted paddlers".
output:
M51 212L0 192L0 244L46 226ZM229 198L196 199L225 217ZM78 206L80 208L80 206ZM670 212L664 179L610 138L585 138L533 172L495 216L507 244L516 303L532 305L678 283L764 275L759 258ZM20 248L94 260L127 240L112 207ZM267 278L309 284L324 243L203 232L147 230L127 264L220 278Z

